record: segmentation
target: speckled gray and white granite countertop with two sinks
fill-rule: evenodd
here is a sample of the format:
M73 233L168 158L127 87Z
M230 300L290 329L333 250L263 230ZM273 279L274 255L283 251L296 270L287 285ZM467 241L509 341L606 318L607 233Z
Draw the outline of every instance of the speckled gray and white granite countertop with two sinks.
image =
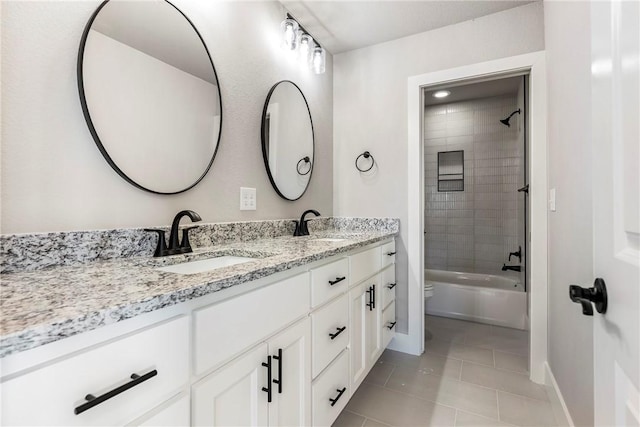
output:
M393 237L391 231L327 231L2 275L0 357L32 349ZM323 241L319 238L341 238ZM256 258L181 275L156 268L212 256Z

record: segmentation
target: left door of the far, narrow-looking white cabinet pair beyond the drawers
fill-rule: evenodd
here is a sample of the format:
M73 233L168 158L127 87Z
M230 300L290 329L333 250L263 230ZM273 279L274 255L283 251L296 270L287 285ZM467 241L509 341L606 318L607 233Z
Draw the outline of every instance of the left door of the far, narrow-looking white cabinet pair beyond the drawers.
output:
M356 286L349 291L349 304L351 305L350 329L350 357L351 357L351 390L358 388L367 374L367 313L369 312L369 294L367 282Z

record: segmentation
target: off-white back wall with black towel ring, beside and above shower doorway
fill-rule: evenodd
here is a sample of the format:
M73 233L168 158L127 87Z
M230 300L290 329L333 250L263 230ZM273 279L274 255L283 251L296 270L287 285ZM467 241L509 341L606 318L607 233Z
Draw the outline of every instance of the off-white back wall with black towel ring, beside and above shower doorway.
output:
M544 49L541 3L334 57L334 213L401 220L398 331L407 331L407 78ZM353 162L369 150L378 167ZM416 213L419 214L419 213Z

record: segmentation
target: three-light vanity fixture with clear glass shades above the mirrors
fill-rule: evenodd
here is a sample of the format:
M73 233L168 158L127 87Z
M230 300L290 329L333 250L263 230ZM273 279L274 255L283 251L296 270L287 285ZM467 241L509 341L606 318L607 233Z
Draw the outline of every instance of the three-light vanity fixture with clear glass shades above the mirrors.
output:
M301 64L310 67L316 74L323 74L326 68L326 52L311 34L288 13L280 24L280 29L283 48L296 51Z

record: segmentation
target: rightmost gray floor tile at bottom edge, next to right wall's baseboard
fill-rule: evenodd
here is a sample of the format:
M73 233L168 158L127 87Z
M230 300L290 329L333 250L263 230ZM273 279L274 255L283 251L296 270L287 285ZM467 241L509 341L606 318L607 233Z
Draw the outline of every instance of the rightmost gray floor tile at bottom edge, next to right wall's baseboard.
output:
M549 402L498 392L500 419L517 426L556 426Z

